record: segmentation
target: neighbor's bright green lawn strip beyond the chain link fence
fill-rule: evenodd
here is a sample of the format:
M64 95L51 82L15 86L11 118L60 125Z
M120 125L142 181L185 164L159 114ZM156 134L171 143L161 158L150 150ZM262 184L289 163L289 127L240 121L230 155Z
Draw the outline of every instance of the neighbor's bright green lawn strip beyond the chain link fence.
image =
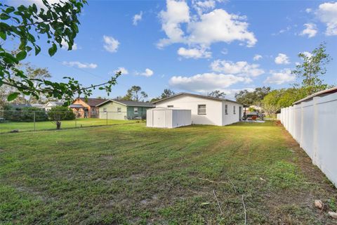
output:
M74 127L92 127L102 126L106 124L124 124L132 123L132 120L101 120L101 119L76 119L76 120L64 120L61 122L62 128L74 128ZM34 130L34 122L4 122L0 123L0 133L13 131L18 129L19 131L32 131ZM35 129L56 129L56 124L51 121L36 122Z

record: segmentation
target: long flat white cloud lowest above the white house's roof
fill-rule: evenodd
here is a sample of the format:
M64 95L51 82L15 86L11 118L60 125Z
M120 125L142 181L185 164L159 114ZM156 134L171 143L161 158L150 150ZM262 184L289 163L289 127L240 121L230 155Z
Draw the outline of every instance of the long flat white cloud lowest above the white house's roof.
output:
M216 73L204 73L192 77L174 76L169 80L170 86L186 91L206 92L216 89L225 89L238 82L249 83L252 80L248 77L234 75L223 75Z

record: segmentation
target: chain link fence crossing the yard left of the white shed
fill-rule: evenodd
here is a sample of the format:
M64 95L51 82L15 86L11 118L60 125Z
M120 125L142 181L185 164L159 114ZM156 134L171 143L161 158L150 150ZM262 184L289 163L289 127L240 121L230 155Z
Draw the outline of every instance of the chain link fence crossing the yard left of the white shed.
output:
M143 117L128 117L127 112L101 112L88 117L85 112L0 110L0 133L107 126L144 120Z

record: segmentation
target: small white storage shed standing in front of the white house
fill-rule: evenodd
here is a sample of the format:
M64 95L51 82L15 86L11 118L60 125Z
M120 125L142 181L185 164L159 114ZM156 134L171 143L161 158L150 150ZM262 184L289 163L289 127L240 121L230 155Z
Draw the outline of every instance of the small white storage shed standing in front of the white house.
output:
M146 111L146 126L175 128L192 123L191 110L181 108L152 108Z

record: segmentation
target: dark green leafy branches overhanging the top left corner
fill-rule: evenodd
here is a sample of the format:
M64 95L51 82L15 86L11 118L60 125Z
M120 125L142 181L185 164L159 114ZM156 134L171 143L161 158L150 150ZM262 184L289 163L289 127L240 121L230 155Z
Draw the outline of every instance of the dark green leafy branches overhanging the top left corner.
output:
M43 8L36 4L18 7L0 3L0 86L11 86L15 91L8 95L7 100L13 101L20 94L33 96L39 99L41 94L48 97L65 99L68 103L75 95L92 94L92 90L99 88L111 92L112 86L117 83L117 72L110 80L103 84L82 86L72 77L63 77L66 82L52 82L48 77L34 78L27 76L18 68L28 53L34 51L38 55L41 47L37 39L46 39L49 44L48 53L53 56L62 43L67 43L68 50L72 50L74 39L79 32L79 15L86 0L69 0L58 3L49 3L42 0ZM4 43L10 39L19 42L18 49L5 49ZM4 42L4 43L1 43ZM34 49L34 50L33 50Z

